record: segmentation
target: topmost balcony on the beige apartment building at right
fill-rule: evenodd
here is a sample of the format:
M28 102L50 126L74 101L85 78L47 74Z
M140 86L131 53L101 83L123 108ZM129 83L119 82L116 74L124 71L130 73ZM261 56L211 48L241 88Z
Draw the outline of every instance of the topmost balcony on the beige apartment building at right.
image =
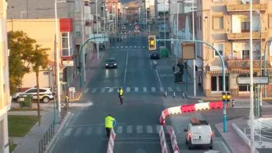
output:
M249 11L248 4L227 4L226 5L227 12L235 12L235 11ZM266 11L267 4L253 4L253 11Z

